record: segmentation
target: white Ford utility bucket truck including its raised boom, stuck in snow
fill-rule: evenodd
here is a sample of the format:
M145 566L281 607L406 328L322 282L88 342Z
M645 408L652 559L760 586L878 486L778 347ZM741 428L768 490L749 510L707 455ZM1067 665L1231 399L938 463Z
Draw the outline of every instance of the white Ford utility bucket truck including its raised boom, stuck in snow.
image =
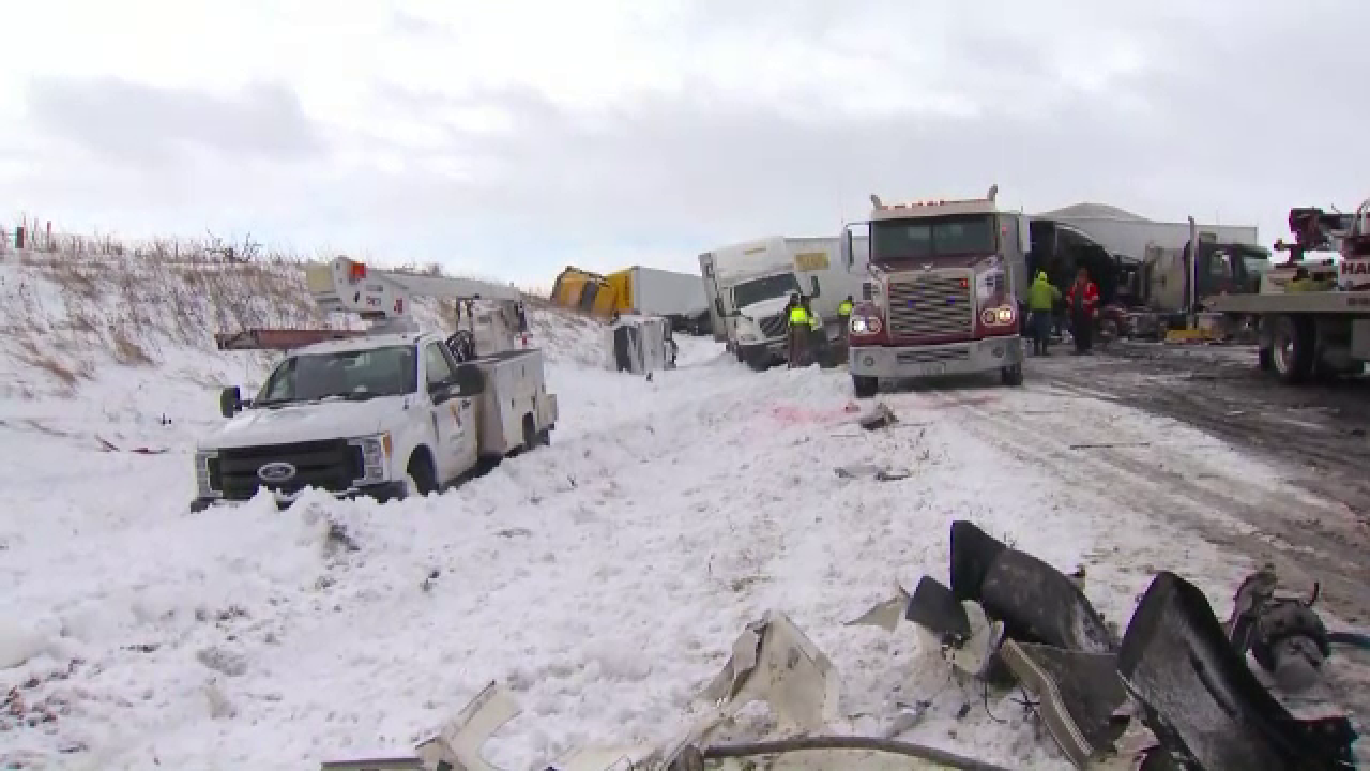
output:
M322 309L358 313L371 327L342 339L333 331L221 337L227 348L282 339L289 350L253 399L225 388L227 421L196 447L192 510L262 490L282 508L308 487L338 498L425 495L549 443L558 409L543 354L515 348L499 321L521 317L516 289L347 258L311 266L307 278ZM410 316L419 295L467 305L467 329L421 332ZM300 344L301 336L319 342Z

